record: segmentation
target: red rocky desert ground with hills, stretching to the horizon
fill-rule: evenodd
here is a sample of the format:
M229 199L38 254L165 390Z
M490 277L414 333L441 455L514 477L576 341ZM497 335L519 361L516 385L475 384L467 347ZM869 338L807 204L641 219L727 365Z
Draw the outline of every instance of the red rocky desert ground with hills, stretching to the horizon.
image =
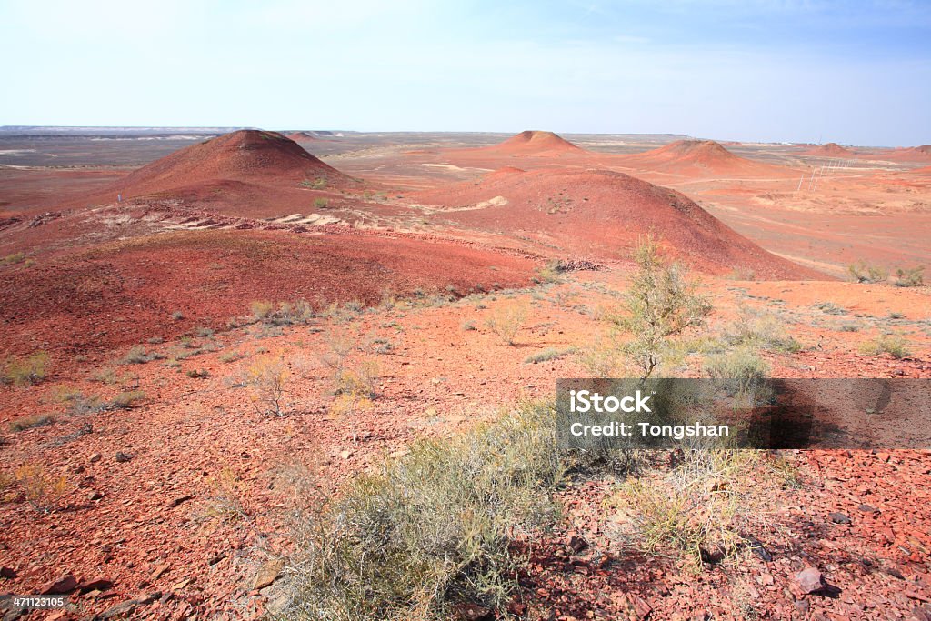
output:
M623 371L645 238L709 304L668 376L931 378L929 167L545 130L2 131L0 593L69 601L4 618L931 619L927 450L683 474L543 464L513 431L557 379Z

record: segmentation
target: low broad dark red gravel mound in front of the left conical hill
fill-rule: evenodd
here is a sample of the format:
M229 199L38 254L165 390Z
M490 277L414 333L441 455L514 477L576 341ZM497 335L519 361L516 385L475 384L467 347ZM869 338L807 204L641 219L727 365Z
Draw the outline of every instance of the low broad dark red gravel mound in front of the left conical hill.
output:
M35 349L61 350L59 358L102 354L196 325L219 329L248 315L252 301L306 300L321 309L415 290L523 286L537 264L412 238L183 231L61 253L34 267L0 267L0 358Z

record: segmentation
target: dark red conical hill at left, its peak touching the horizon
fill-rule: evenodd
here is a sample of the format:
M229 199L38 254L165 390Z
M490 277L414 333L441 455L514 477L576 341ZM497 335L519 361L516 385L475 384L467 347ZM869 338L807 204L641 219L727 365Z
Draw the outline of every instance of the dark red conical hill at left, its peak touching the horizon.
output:
M349 178L274 131L243 129L186 147L143 166L118 183L126 197L204 182L294 185L305 179L342 185Z

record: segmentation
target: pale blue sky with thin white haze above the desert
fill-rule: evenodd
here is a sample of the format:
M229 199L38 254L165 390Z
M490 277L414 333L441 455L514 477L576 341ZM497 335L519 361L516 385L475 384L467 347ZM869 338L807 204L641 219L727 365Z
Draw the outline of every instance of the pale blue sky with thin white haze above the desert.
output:
M0 0L0 54L0 125L931 142L931 2Z

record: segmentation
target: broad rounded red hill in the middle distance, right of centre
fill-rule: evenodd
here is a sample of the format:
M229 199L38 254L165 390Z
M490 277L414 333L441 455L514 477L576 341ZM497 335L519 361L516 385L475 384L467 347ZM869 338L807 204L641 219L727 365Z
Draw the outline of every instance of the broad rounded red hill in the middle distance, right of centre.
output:
M825 278L762 250L688 197L620 172L496 171L415 198L451 208L435 218L594 259L626 259L641 236L654 232L673 254L709 273Z

